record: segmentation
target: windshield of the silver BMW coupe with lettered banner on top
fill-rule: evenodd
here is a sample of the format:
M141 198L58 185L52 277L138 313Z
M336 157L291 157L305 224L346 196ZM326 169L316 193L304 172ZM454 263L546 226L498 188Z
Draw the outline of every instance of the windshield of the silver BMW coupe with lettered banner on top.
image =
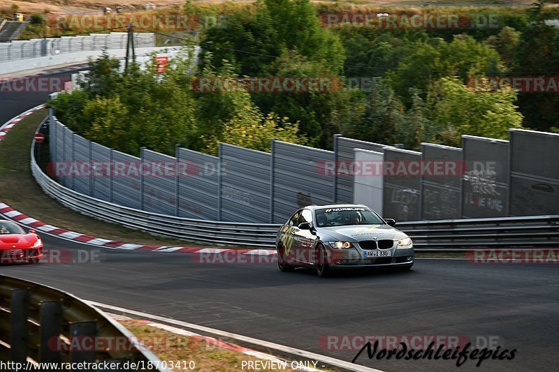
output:
M324 208L315 211L317 226L383 225L384 221L368 207Z

